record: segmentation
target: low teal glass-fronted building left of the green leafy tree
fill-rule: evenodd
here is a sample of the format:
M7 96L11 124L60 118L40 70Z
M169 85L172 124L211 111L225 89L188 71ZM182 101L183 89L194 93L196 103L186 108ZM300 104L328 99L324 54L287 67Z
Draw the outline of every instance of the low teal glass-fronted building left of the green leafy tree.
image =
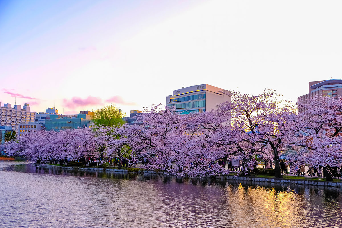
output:
M80 114L75 115L50 115L50 119L45 119L45 131L89 127L93 117L94 112L91 111L81 111Z

